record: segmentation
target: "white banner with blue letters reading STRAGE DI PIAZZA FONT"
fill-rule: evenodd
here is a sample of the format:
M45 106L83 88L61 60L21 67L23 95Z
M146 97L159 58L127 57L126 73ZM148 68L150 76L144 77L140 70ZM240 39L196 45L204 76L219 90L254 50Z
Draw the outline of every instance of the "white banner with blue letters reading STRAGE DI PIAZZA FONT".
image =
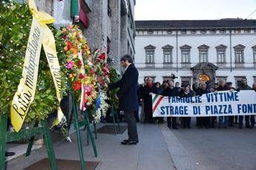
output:
M256 115L256 92L211 92L191 98L152 95L153 117Z

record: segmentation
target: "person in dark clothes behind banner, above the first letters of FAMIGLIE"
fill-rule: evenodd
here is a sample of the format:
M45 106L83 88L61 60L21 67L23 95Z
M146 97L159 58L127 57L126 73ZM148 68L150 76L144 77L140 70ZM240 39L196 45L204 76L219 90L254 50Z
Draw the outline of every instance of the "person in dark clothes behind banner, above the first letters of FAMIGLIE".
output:
M163 95L168 97L174 97L174 81L168 81L168 88L163 90ZM176 117L168 117L167 118L167 126L169 129L178 129L177 128L177 118Z

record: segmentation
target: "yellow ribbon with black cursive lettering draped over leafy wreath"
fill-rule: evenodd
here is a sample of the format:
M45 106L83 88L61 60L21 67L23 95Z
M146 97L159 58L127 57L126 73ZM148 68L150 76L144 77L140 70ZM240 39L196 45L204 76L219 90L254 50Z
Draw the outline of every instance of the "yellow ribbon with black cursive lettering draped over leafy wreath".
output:
M36 93L37 75L39 69L39 59L41 47L43 45L45 55L56 87L56 96L60 103L61 74L59 61L56 54L56 46L53 33L46 24L51 24L55 19L47 13L40 12L36 8L33 0L28 0L33 21L30 28L30 35L27 41L27 50L24 58L22 78L19 82L18 90L13 97L10 108L10 118L16 132L22 128L27 111L34 101ZM58 106L58 118L54 120L53 126L59 124L63 118L62 109Z

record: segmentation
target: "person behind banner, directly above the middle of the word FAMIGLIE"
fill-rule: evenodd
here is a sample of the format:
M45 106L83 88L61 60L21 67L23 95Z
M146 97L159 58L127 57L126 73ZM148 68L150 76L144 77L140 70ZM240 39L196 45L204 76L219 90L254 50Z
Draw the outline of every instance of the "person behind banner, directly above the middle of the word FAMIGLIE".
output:
M181 92L181 94L180 94L180 98L189 98L189 97L193 97L195 95L196 95L196 93L190 89L190 85L186 84L184 91ZM191 117L183 117L182 120L183 120L183 128L190 129Z

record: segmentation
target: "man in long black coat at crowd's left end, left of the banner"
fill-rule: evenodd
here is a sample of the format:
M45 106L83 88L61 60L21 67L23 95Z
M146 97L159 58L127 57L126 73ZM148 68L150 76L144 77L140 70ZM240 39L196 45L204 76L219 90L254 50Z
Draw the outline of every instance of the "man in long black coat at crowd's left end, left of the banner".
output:
M148 78L147 85L142 89L142 98L144 99L144 103L145 103L144 123L155 123L155 119L153 118L153 113L152 113L152 95L151 95L151 92L153 92L153 86L154 86L153 79Z

